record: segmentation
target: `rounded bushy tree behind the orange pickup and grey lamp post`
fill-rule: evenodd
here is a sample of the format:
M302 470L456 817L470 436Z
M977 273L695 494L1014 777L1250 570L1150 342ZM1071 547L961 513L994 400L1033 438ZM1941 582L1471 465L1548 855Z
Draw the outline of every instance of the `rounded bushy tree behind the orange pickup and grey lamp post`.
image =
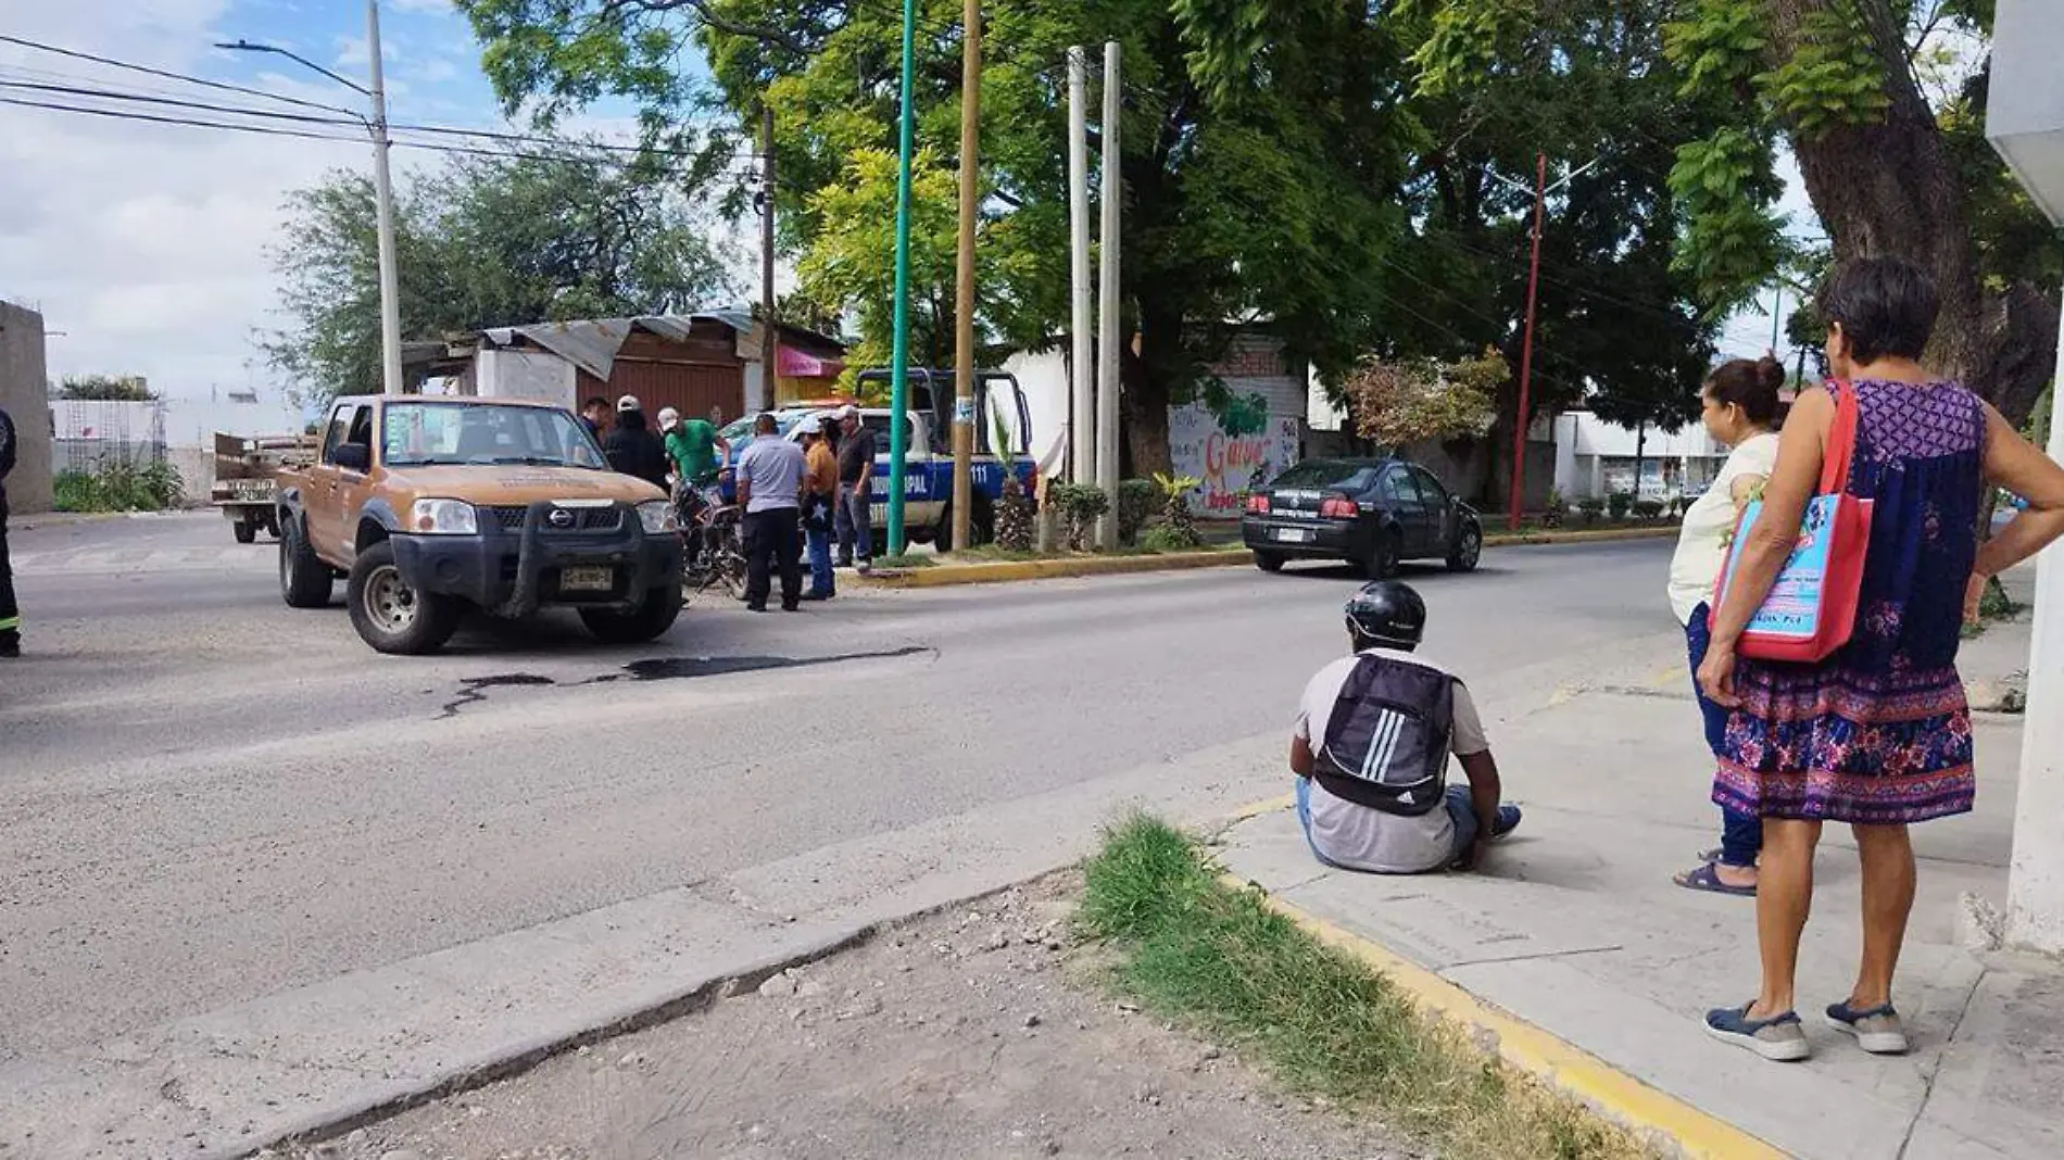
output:
M287 326L260 336L310 394L378 392L372 184L330 173L287 198L272 252ZM405 339L547 320L679 314L724 295L702 221L652 159L456 159L405 180L394 235Z

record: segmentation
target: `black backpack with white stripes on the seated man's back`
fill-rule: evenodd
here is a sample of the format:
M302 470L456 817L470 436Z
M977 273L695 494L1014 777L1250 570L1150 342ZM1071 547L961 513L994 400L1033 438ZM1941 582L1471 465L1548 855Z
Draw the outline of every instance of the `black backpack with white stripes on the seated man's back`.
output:
M1313 776L1325 793L1420 817L1447 797L1455 677L1364 652L1340 687Z

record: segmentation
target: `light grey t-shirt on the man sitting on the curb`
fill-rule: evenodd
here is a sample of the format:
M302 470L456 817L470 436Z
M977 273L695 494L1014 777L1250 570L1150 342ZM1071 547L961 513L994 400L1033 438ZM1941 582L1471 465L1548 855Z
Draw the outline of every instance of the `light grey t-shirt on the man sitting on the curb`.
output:
M1447 673L1441 665L1412 652L1395 648L1370 648L1368 652L1422 665L1437 673ZM1296 735L1317 749L1325 743L1325 727L1333 716L1333 702L1340 687L1354 673L1356 656L1342 656L1304 685L1298 700ZM1457 758L1490 749L1484 737L1484 720L1476 714L1470 689L1455 683L1455 722L1449 745ZM1373 873L1426 873L1455 861L1455 819L1447 809L1432 809L1418 817L1383 813L1366 805L1325 793L1317 780L1311 782L1311 842L1335 865Z

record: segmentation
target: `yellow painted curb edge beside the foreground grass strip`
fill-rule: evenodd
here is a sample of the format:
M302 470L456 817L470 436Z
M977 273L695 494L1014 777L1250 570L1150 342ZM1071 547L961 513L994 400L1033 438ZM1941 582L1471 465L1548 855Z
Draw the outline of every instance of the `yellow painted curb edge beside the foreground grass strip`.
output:
M1259 890L1257 883L1230 873L1220 875L1220 881L1234 890ZM1732 1123L1664 1094L1604 1059L1484 1003L1476 995L1383 945L1309 914L1265 890L1261 898L1269 910L1290 919L1321 943L1337 947L1383 974L1420 1009L1490 1032L1498 1042L1498 1055L1513 1067L1585 1100L1635 1131L1653 1131L1668 1137L1684 1156L1711 1160L1787 1158L1785 1152L1771 1148Z

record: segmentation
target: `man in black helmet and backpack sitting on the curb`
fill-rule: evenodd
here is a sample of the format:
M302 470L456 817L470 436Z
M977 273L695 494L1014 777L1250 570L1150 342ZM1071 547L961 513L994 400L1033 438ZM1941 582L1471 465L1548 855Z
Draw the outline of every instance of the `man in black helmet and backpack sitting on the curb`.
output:
M1498 805L1498 764L1470 689L1412 654L1424 634L1426 603L1412 586L1366 584L1348 601L1354 654L1304 685L1290 772L1304 840L1325 865L1468 869L1519 826L1519 807ZM1468 786L1447 784L1451 751Z

